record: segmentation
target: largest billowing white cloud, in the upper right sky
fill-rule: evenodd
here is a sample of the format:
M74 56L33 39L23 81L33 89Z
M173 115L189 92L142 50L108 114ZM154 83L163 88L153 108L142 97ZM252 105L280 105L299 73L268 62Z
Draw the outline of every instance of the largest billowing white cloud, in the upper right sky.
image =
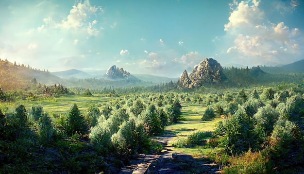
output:
M252 6L248 3L241 1L224 25L228 38L233 38L233 44L226 52L246 61L242 62L244 64L281 63L286 61L287 54L298 54L300 49L293 37L299 34L299 29L290 30L284 22L271 23L259 9L259 1L253 0Z

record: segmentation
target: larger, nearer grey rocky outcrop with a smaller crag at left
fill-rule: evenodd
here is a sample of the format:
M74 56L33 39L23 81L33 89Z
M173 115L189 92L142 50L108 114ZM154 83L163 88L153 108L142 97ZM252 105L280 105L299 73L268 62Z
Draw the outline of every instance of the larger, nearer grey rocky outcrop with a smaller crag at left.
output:
M193 88L203 84L220 83L225 79L220 64L212 58L206 58L192 70L189 76L185 70L180 78L180 83L185 88Z

